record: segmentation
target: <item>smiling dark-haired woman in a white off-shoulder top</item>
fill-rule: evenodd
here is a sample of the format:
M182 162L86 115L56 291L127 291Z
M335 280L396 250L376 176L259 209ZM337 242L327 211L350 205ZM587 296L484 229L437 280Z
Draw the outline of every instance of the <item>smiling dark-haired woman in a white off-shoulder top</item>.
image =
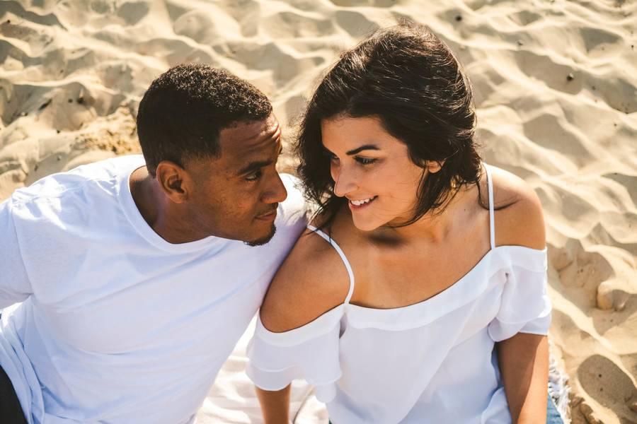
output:
M309 102L319 205L248 349L266 423L305 378L335 424L539 423L551 305L539 200L481 162L471 90L429 30L379 30Z

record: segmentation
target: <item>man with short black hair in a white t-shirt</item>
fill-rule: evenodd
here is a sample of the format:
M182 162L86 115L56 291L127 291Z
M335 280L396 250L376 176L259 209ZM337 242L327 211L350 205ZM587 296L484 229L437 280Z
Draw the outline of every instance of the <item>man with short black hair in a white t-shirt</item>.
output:
M2 313L2 423L20 422L12 405L28 423L193 422L304 228L272 106L245 81L176 66L137 131L143 158L0 204L0 308L18 304Z

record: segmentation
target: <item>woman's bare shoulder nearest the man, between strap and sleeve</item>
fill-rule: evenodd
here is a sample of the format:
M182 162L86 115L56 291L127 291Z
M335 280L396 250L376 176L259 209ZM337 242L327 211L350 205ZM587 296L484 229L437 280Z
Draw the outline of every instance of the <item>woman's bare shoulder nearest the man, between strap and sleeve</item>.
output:
M282 332L314 321L343 303L350 280L338 252L306 230L268 288L260 318L266 329Z

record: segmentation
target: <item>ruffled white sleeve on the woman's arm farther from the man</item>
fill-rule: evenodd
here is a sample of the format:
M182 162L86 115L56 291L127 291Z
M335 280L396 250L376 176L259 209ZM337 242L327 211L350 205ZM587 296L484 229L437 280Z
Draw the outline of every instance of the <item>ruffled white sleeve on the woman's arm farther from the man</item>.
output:
M507 247L510 262L500 310L488 325L493 341L517 333L546 335L551 325L551 300L546 293L546 249Z

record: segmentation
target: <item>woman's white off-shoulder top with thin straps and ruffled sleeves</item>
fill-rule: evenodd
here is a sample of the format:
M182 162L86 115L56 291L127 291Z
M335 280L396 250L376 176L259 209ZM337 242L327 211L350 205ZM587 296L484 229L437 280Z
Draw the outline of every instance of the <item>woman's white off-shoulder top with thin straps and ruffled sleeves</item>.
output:
M334 424L510 423L494 343L519 332L547 334L546 249L495 247L488 167L490 250L459 281L423 302L389 310L345 302L284 333L260 319L248 346L248 376L279 390L306 379Z

